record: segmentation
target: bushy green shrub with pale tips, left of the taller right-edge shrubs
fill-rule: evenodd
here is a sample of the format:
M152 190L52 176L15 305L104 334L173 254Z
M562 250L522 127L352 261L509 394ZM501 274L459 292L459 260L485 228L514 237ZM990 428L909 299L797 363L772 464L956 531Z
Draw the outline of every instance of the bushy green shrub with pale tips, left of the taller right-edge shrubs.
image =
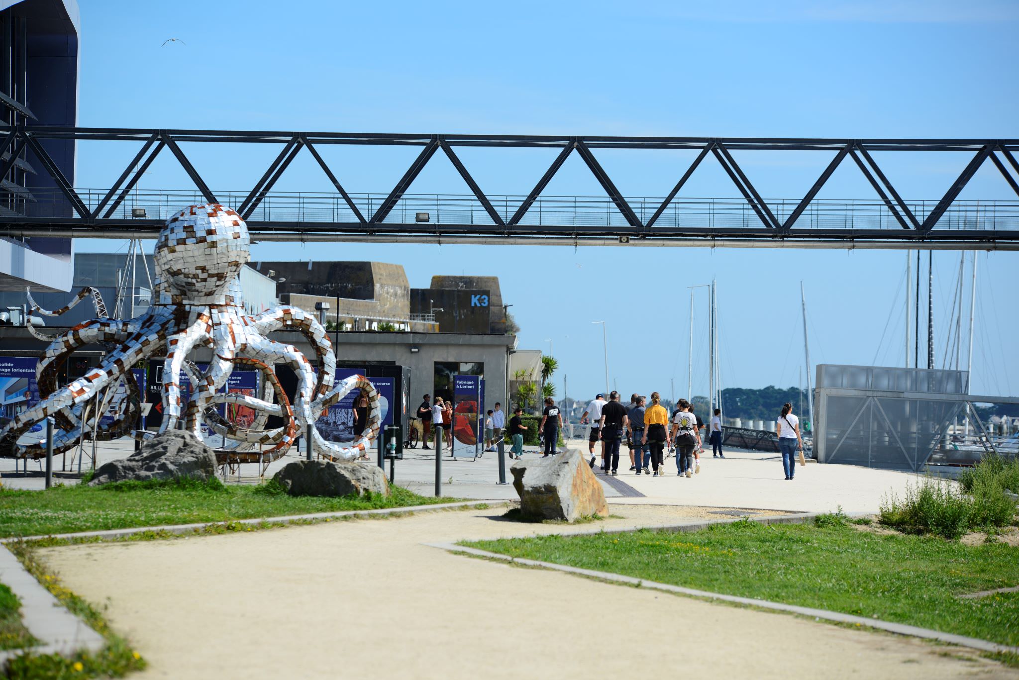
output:
M932 533L959 538L970 526L973 502L937 481L906 486L900 502L893 494L881 502L879 521L905 533Z

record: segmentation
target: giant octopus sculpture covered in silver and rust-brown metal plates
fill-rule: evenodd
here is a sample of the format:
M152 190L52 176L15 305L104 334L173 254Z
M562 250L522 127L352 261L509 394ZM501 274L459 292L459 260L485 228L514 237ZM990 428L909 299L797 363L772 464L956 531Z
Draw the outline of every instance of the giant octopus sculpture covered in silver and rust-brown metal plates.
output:
M312 315L281 306L251 316L243 305L240 268L250 258L248 227L233 210L218 204L193 205L170 217L156 242L154 281L156 301L145 314L129 320L98 318L85 321L51 343L36 368L40 401L22 411L0 431L0 457L34 458L46 455L45 442L18 443L37 423L55 420L53 449L63 453L88 433L112 439L133 431L141 413L141 396L131 367L165 357L163 420L159 431L183 427L201 435L203 424L222 435L217 452L220 464L258 462L267 465L283 456L301 436L310 434L312 450L329 460L352 460L366 454L379 429L380 405L375 387L354 375L334 384L335 356L325 328ZM91 293L86 289L60 310L41 309L29 293L33 313L57 316ZM317 355L317 368L292 345L269 337L274 330L300 331ZM38 331L33 331L37 332ZM108 348L102 363L84 376L57 386L57 373L72 352L86 345ZM212 359L200 370L189 355L209 347ZM291 404L274 366L285 364L298 378ZM253 367L263 377L261 398L223 394L236 366ZM178 380L184 373L191 396L183 402ZM341 447L324 439L315 420L352 390L368 397L368 423L359 439ZM256 412L250 427L242 428L220 415L222 404L238 404ZM113 417L102 423L104 414ZM270 416L283 425L267 428ZM152 432L133 431L136 437Z

